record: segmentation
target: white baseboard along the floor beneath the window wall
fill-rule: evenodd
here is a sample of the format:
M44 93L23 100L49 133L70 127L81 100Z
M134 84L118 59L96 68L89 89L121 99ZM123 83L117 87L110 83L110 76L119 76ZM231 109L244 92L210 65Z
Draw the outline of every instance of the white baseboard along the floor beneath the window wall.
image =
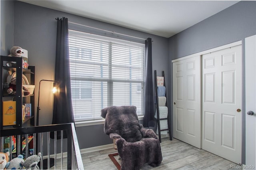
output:
M114 149L114 145L113 144L106 144L106 145L95 146L95 147L91 147L91 148L84 148L84 149L80 149L80 153L85 154L85 153L105 150L105 149L109 149L109 148ZM68 155L67 152L63 152L63 158L66 158L67 155ZM48 158L48 156L43 156L43 159L46 159L46 158ZM54 154L50 155L50 158L54 158ZM61 153L56 154L56 158L60 159L61 158Z

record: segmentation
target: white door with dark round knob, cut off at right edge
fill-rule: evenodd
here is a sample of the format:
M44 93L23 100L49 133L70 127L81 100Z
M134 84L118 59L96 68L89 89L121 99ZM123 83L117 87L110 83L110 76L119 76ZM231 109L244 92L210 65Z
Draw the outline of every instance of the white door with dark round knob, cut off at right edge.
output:
M255 169L256 160L256 35L245 39L245 96L246 111L253 111L253 115L246 114L246 157L248 169ZM254 168L252 168L254 167Z

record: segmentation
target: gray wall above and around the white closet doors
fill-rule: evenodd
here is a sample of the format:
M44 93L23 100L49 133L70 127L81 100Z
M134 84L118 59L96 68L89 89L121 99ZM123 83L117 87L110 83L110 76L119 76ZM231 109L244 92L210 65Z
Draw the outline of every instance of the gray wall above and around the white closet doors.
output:
M171 60L186 55L212 49L221 45L242 40L244 51L244 38L256 34L256 1L240 1L233 6L199 22L198 24L169 38L169 59L171 73ZM242 54L242 163L245 162L245 74L244 52ZM172 77L172 75L170 75ZM172 89L172 79L170 78ZM172 96L172 93L171 95ZM169 97L172 100L171 97Z

